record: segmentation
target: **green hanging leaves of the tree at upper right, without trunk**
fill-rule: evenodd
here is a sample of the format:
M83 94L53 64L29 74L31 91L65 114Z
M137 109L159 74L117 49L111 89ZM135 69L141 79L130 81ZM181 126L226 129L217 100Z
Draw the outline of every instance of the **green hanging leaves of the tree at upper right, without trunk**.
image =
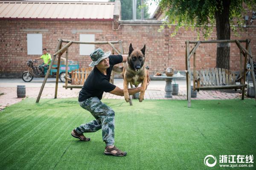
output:
M204 38L209 37L215 25L215 12L221 12L222 8L217 8L218 0L161 0L160 8L165 11L167 21L165 24L171 27L177 24L172 36L180 27L192 28L202 31ZM222 4L222 0L220 0ZM244 4L248 8L255 7L256 0L231 0L230 4L230 26L236 32L236 26L243 26L243 16L245 14ZM164 26L160 28L163 29Z

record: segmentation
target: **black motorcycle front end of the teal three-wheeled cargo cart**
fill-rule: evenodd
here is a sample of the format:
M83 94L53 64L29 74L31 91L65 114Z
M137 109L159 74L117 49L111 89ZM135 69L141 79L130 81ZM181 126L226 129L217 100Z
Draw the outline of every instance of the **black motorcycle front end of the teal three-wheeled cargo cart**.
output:
M44 71L41 71L38 66L34 66L33 63L38 62L36 60L29 59L27 65L29 66L28 71L24 71L22 74L22 79L24 82L31 82L34 77L44 77ZM47 66L47 69L49 66Z

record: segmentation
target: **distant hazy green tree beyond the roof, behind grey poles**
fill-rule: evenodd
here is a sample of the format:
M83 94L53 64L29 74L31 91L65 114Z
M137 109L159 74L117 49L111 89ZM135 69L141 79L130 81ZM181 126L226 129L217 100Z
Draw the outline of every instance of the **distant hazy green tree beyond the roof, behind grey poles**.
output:
M111 2L114 2L114 0L110 0ZM121 1L121 18L122 20L132 20L132 0L120 0ZM146 6L146 0L144 0L144 5L141 6L141 1L137 0L137 13L136 18L140 19L140 11L141 8L144 9L144 18L149 18L148 14L148 6Z

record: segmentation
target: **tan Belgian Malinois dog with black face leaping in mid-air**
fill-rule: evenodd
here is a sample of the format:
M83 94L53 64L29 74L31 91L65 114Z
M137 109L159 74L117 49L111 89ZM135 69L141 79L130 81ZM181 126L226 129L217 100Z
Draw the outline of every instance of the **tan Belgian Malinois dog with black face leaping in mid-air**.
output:
M134 50L130 44L127 61L125 62L125 66L122 71L122 77L124 79L124 96L126 102L129 102L130 100L128 93L129 82L135 85L135 87L138 87L138 85L142 83L139 101L142 102L144 100L144 94L147 87L147 71L144 66L145 48L146 45L144 45L141 50Z

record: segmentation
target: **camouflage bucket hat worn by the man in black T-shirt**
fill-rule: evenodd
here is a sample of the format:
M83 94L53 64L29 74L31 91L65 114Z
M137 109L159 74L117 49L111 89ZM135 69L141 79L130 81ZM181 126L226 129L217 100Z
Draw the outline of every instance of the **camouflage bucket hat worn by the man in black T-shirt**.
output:
M92 52L92 54L90 54L90 57L93 61L89 64L89 66L94 67L95 65L99 64L102 59L109 57L110 54L111 51L104 53L101 48L97 48L95 51Z

